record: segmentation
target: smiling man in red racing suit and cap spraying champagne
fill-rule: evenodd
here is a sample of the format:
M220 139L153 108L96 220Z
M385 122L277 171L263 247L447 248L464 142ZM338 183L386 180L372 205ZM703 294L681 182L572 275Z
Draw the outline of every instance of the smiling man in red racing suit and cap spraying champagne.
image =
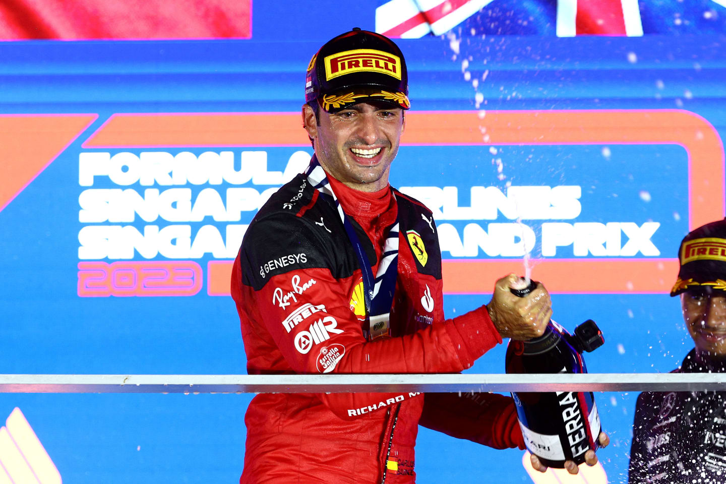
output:
M444 319L431 210L388 185L407 84L398 46L358 28L310 61L315 154L259 210L232 272L250 374L454 373L503 337L542 335L550 296L516 297L514 274L489 305ZM245 422L240 483L413 483L418 424L523 448L513 401L489 393L263 394Z

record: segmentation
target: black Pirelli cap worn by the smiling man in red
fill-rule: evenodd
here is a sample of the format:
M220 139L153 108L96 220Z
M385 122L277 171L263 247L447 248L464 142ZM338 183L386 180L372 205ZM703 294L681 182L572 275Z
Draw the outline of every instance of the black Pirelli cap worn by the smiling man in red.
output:
M404 54L390 38L354 28L328 41L308 65L305 102L316 99L327 112L359 102L389 102L407 110Z

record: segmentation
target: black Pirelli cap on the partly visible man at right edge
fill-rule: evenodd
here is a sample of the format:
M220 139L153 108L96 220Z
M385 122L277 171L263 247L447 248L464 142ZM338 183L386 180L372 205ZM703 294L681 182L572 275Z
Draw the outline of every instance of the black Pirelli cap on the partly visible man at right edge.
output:
M680 271L672 296L703 286L726 292L726 218L706 223L683 237L678 260Z

